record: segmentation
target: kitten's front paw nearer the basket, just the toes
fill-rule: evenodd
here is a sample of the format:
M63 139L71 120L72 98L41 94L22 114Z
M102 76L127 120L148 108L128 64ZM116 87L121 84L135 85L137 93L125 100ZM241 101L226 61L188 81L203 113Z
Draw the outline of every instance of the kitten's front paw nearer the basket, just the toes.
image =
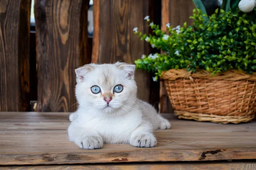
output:
M138 135L131 139L130 144L135 147L154 147L157 139L152 134Z

